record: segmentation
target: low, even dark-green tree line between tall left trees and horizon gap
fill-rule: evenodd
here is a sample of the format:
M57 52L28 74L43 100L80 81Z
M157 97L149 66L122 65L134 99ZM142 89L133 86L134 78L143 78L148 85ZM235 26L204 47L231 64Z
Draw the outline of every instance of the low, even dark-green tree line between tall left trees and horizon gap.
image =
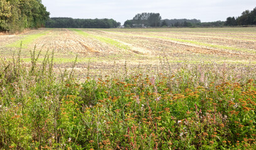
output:
M120 26L114 19L73 19L71 17L51 17L46 27L53 28L112 28Z

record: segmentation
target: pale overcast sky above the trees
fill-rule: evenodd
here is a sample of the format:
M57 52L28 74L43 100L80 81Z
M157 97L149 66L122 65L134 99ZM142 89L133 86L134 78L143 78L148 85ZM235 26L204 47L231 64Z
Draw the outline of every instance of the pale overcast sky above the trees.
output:
M256 7L256 0L42 0L50 17L112 18L124 24L137 13L159 12L162 19L225 21Z

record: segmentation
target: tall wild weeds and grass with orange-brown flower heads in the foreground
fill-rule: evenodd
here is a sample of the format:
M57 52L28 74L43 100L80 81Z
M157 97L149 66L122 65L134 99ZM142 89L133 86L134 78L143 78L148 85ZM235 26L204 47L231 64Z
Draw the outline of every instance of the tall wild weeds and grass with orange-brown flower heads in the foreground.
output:
M255 72L161 58L157 74L79 82L54 51L0 65L0 149L255 149ZM76 59L75 59L76 60ZM142 67L140 66L142 69ZM162 68L162 69L161 69ZM165 72L163 72L165 71Z

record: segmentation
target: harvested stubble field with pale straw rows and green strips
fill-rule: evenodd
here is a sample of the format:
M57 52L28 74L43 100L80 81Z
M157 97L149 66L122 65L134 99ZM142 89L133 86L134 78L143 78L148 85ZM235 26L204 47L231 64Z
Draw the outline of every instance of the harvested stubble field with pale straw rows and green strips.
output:
M90 59L97 73L111 66L152 66L166 63L256 63L256 27L173 29L45 29L0 36L1 58L10 59L23 42L22 58L31 49L55 51L55 66L71 66L78 54L78 70ZM43 60L39 58L39 60Z

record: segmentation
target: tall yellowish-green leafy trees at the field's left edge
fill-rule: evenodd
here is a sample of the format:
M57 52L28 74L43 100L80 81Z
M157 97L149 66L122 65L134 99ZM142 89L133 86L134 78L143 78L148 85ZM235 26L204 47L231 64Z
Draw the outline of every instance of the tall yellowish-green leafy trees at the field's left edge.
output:
M45 26L49 15L41 0L0 0L0 31Z

